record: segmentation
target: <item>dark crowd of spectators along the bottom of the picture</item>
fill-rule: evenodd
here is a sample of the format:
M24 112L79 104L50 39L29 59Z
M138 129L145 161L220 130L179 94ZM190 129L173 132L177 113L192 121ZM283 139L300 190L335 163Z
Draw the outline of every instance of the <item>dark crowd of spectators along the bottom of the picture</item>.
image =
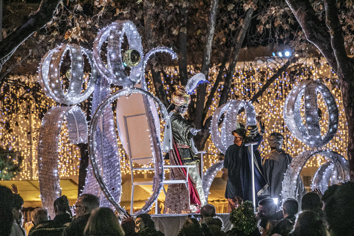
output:
M354 236L354 183L333 185L322 195L309 192L298 202L288 198L282 209L271 198L259 202L255 218L258 225L252 234L238 231L236 236ZM68 198L63 195L54 202L55 218L49 220L45 208L35 208L32 221L22 227L23 199L10 189L0 186L0 235L1 236L164 236L156 228L149 214L139 214L135 219L126 213L124 219L112 209L99 207L99 198L82 194L74 205L74 216ZM242 204L240 205L242 206ZM199 216L199 217L195 217ZM253 216L252 216L253 217ZM198 219L197 219L198 218ZM257 229L257 228L258 229ZM224 229L224 223L216 215L213 205L200 209L200 215L190 215L178 236L227 236L232 229Z

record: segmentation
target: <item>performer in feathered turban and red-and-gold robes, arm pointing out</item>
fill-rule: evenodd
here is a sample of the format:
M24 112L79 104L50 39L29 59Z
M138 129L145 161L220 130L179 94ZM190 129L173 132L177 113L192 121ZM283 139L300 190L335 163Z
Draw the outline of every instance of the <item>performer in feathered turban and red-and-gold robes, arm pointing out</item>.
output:
M170 159L170 165L194 165L189 168L188 189L184 184L170 184L165 198L165 214L195 213L199 207L206 205L204 191L199 175L199 159L192 137L200 129L196 129L185 120L190 94L201 82L207 82L202 73L194 75L187 85L179 87L172 93L170 119L166 122L162 150L167 153L165 159ZM170 168L170 179L185 179L185 168Z

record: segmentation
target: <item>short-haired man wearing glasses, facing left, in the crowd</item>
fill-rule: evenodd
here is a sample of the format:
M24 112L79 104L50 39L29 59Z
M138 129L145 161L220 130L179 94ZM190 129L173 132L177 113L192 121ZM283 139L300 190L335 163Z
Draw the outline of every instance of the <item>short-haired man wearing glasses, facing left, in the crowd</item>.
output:
M92 194L82 194L74 205L75 219L63 230L62 236L82 236L93 210L99 208L99 199Z

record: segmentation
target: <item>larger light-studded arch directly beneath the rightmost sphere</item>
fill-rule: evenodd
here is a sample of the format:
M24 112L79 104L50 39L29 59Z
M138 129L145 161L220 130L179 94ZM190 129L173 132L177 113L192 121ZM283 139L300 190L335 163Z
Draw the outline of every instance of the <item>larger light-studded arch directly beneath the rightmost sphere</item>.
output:
M329 150L307 150L297 155L287 168L284 180L282 182L281 196L282 199L296 198L297 179L300 175L302 168L305 166L306 161L314 155L322 155L332 161L337 169L337 178L341 181L349 179L349 165L348 161L337 152Z

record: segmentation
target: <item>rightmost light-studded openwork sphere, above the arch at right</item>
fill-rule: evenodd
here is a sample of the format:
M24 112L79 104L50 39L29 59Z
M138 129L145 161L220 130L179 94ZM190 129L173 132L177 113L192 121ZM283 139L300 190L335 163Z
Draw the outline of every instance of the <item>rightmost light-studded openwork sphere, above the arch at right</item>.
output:
M329 111L329 129L321 136L318 121L317 93L321 93ZM304 99L306 125L301 117L301 99ZM285 99L284 121L289 131L304 144L318 148L328 143L337 133L338 108L331 91L319 80L303 80Z

